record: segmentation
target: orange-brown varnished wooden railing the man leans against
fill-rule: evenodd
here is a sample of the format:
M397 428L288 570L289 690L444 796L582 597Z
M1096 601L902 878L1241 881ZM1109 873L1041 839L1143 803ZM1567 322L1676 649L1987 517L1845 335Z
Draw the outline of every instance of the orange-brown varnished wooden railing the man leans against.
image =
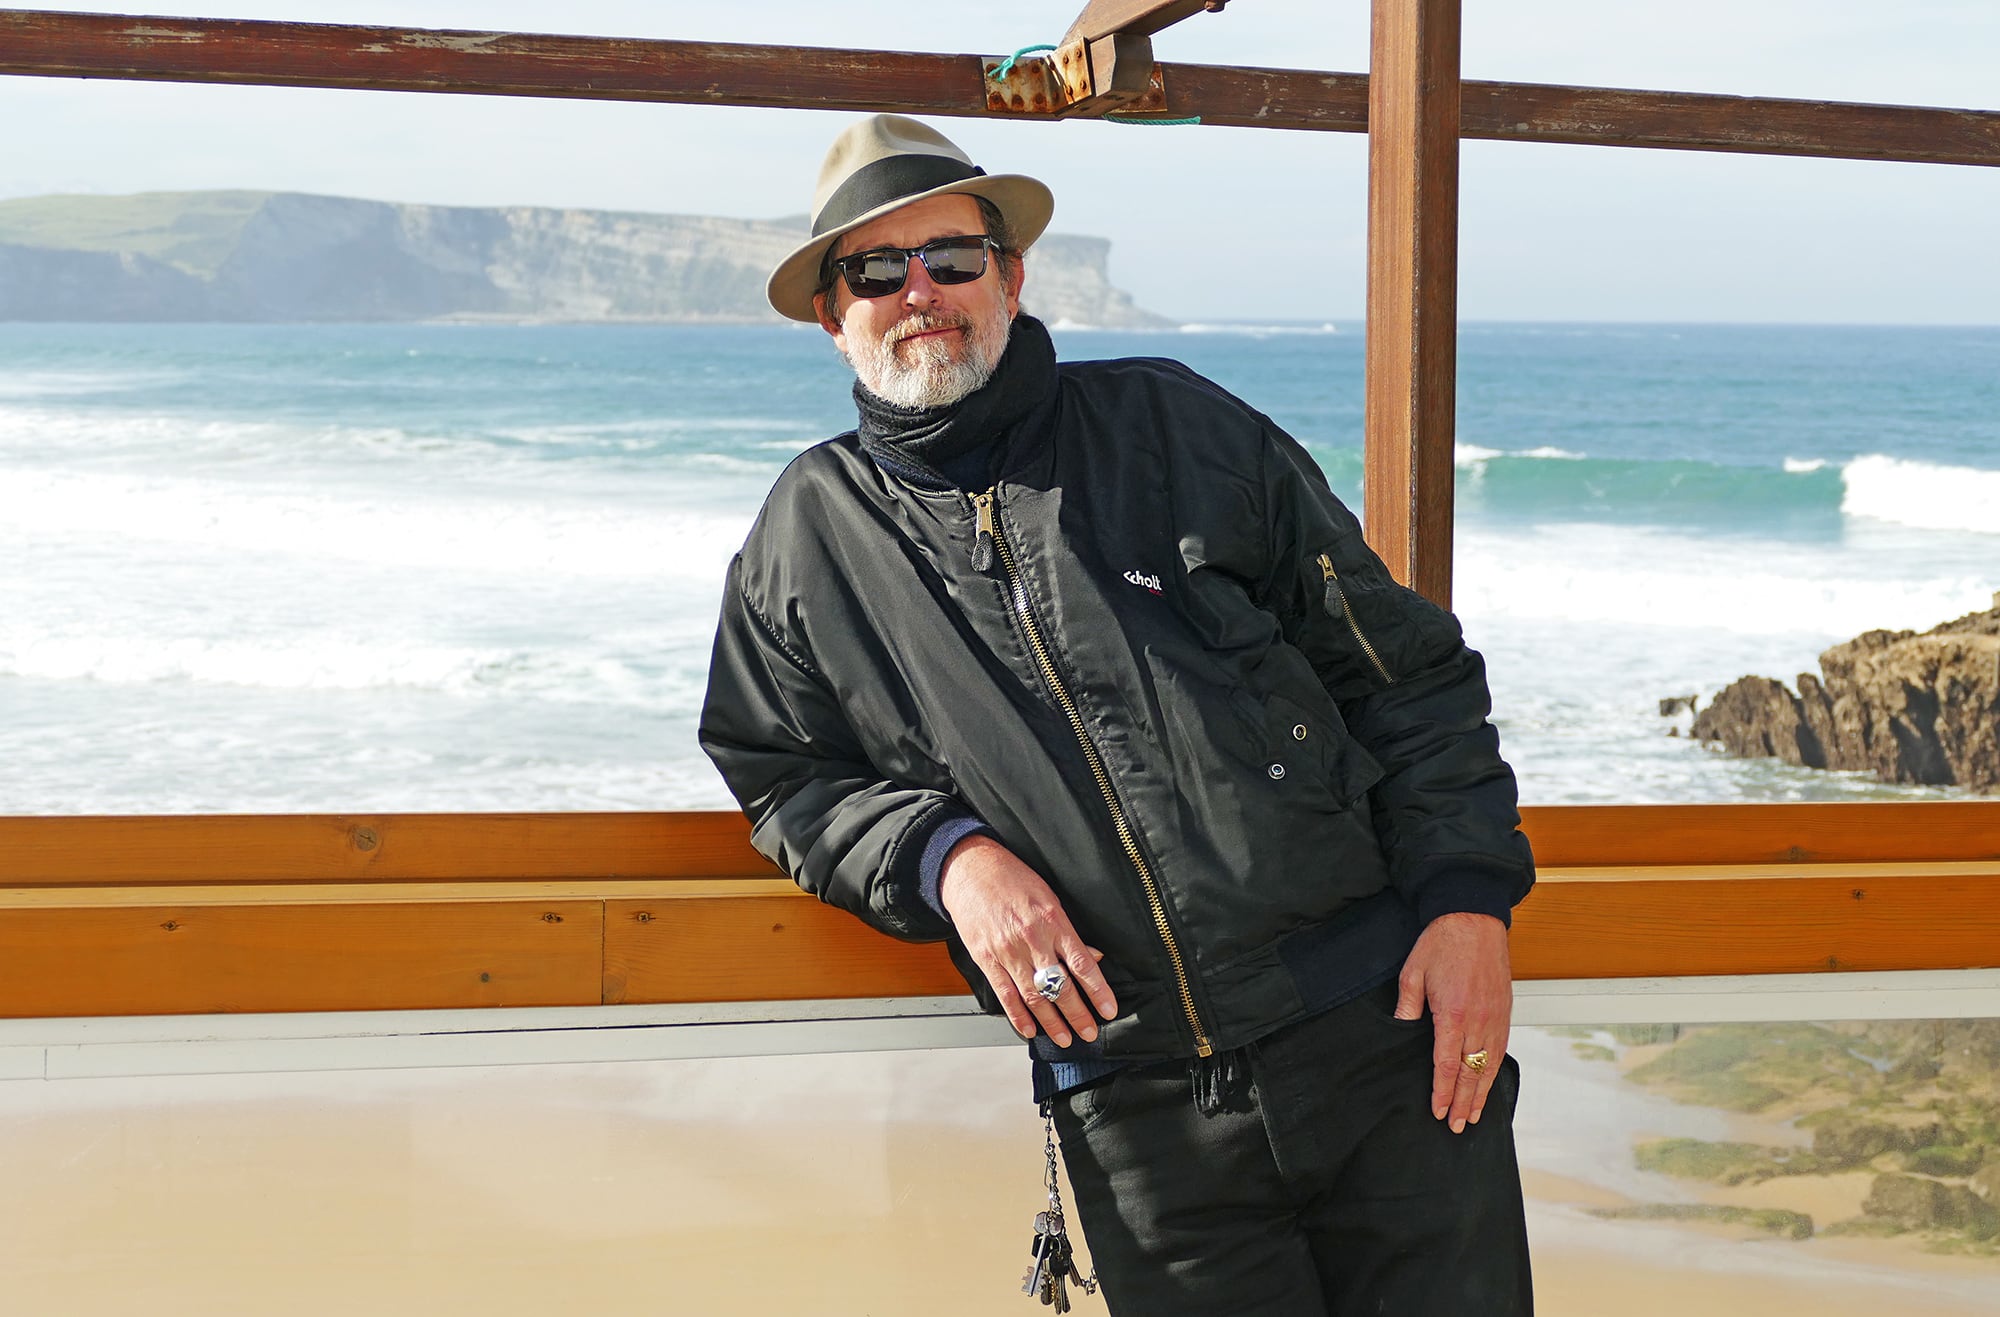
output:
M1522 979L2000 967L2000 801L1522 813ZM964 991L722 813L0 819L0 1017Z

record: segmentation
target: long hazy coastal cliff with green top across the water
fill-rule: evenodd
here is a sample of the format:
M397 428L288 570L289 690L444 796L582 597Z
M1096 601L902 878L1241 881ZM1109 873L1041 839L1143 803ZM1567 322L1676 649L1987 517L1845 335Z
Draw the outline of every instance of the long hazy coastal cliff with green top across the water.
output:
M298 192L0 200L0 320L776 320L770 268L804 218L414 206ZM1048 234L1024 304L1050 322L1170 328L1108 274L1110 242Z

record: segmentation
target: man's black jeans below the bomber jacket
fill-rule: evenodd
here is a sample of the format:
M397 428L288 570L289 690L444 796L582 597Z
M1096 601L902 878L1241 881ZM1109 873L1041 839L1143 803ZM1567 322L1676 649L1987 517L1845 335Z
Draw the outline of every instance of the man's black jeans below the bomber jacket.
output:
M1186 1063L1056 1099L1076 1215L1128 1317L1528 1317L1508 1057L1478 1125L1430 1115L1430 1017L1396 985L1250 1049L1248 1103L1204 1117Z

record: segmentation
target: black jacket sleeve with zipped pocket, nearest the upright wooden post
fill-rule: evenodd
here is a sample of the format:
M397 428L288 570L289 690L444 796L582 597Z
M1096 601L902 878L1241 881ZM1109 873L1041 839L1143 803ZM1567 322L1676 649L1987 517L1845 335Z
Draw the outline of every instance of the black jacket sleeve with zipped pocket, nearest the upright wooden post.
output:
M1298 440L1268 434L1264 602L1382 765L1370 799L1392 881L1424 923L1454 911L1510 923L1534 857L1486 721L1486 665L1458 618L1390 578Z

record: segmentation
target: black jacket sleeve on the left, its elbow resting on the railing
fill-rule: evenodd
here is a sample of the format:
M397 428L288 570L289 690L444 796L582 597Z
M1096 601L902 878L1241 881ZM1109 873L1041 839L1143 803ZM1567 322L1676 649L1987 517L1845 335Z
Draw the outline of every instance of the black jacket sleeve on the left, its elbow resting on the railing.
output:
M868 763L800 636L782 632L730 562L708 665L700 743L750 819L750 841L820 901L906 941L950 923L938 871L980 831L938 791L890 783Z

